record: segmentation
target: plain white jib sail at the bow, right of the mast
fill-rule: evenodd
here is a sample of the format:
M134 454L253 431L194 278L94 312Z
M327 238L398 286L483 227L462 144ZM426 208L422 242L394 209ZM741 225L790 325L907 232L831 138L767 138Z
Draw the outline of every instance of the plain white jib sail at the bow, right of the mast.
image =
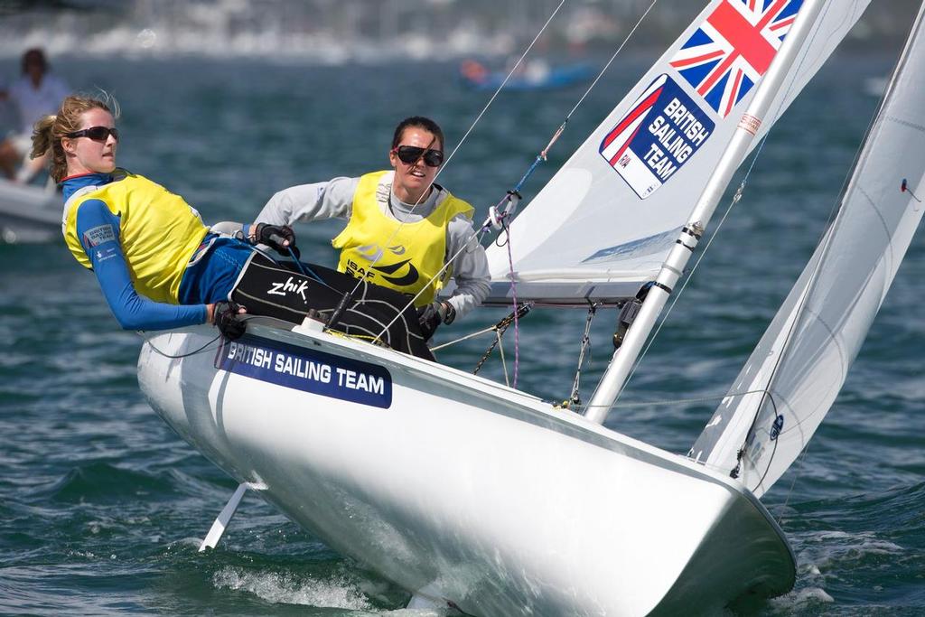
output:
M829 411L919 225L923 10L838 216L690 452L698 462L736 470L756 496L796 460Z

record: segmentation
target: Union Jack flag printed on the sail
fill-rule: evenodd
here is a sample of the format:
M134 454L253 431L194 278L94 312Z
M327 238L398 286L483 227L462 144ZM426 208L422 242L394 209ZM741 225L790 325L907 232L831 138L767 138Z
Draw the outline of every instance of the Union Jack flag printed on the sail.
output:
M723 0L670 64L726 117L761 79L803 0Z

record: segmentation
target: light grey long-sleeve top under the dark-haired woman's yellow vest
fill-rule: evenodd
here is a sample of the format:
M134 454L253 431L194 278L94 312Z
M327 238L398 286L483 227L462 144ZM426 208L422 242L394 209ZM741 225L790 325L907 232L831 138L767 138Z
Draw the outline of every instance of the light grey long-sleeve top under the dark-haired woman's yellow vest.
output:
M383 180L390 183L389 177ZM359 182L359 178L335 178L278 191L257 215L255 222L291 225L325 218L349 220L353 210L353 193ZM385 216L403 223L416 223L434 211L444 194L446 191L435 184L427 199L415 206L401 202L394 192L389 191L389 203L379 205ZM450 259L456 283L448 302L456 309L456 316L462 317L485 300L490 290L485 248L476 240L472 222L465 216L455 216L450 220L445 259Z

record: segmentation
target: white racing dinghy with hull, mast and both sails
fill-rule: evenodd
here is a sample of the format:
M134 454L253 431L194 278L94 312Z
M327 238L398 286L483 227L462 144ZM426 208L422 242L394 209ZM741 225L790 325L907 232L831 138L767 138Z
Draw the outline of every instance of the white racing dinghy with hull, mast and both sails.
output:
M219 535L253 489L410 606L474 615L687 614L788 591L794 554L758 498L831 405L919 223L922 10L839 216L691 452L601 423L734 168L866 5L710 2L512 222L513 268L490 252L492 302L512 281L550 304L640 296L584 416L310 321L254 319L217 350L209 327L150 336L146 397L241 483ZM721 41L730 24L767 46L730 51L748 38Z

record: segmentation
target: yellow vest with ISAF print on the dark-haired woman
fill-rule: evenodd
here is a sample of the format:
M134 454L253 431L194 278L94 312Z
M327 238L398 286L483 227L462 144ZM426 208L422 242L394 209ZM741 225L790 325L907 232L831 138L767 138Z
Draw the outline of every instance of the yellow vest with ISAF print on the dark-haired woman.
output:
M414 304L424 306L434 301L452 275L448 265L438 276L446 258L450 220L461 214L472 219L475 209L444 191L430 215L416 223L401 223L380 207L388 208L391 174L376 171L360 179L350 222L331 244L341 250L340 272L402 293L423 290Z

